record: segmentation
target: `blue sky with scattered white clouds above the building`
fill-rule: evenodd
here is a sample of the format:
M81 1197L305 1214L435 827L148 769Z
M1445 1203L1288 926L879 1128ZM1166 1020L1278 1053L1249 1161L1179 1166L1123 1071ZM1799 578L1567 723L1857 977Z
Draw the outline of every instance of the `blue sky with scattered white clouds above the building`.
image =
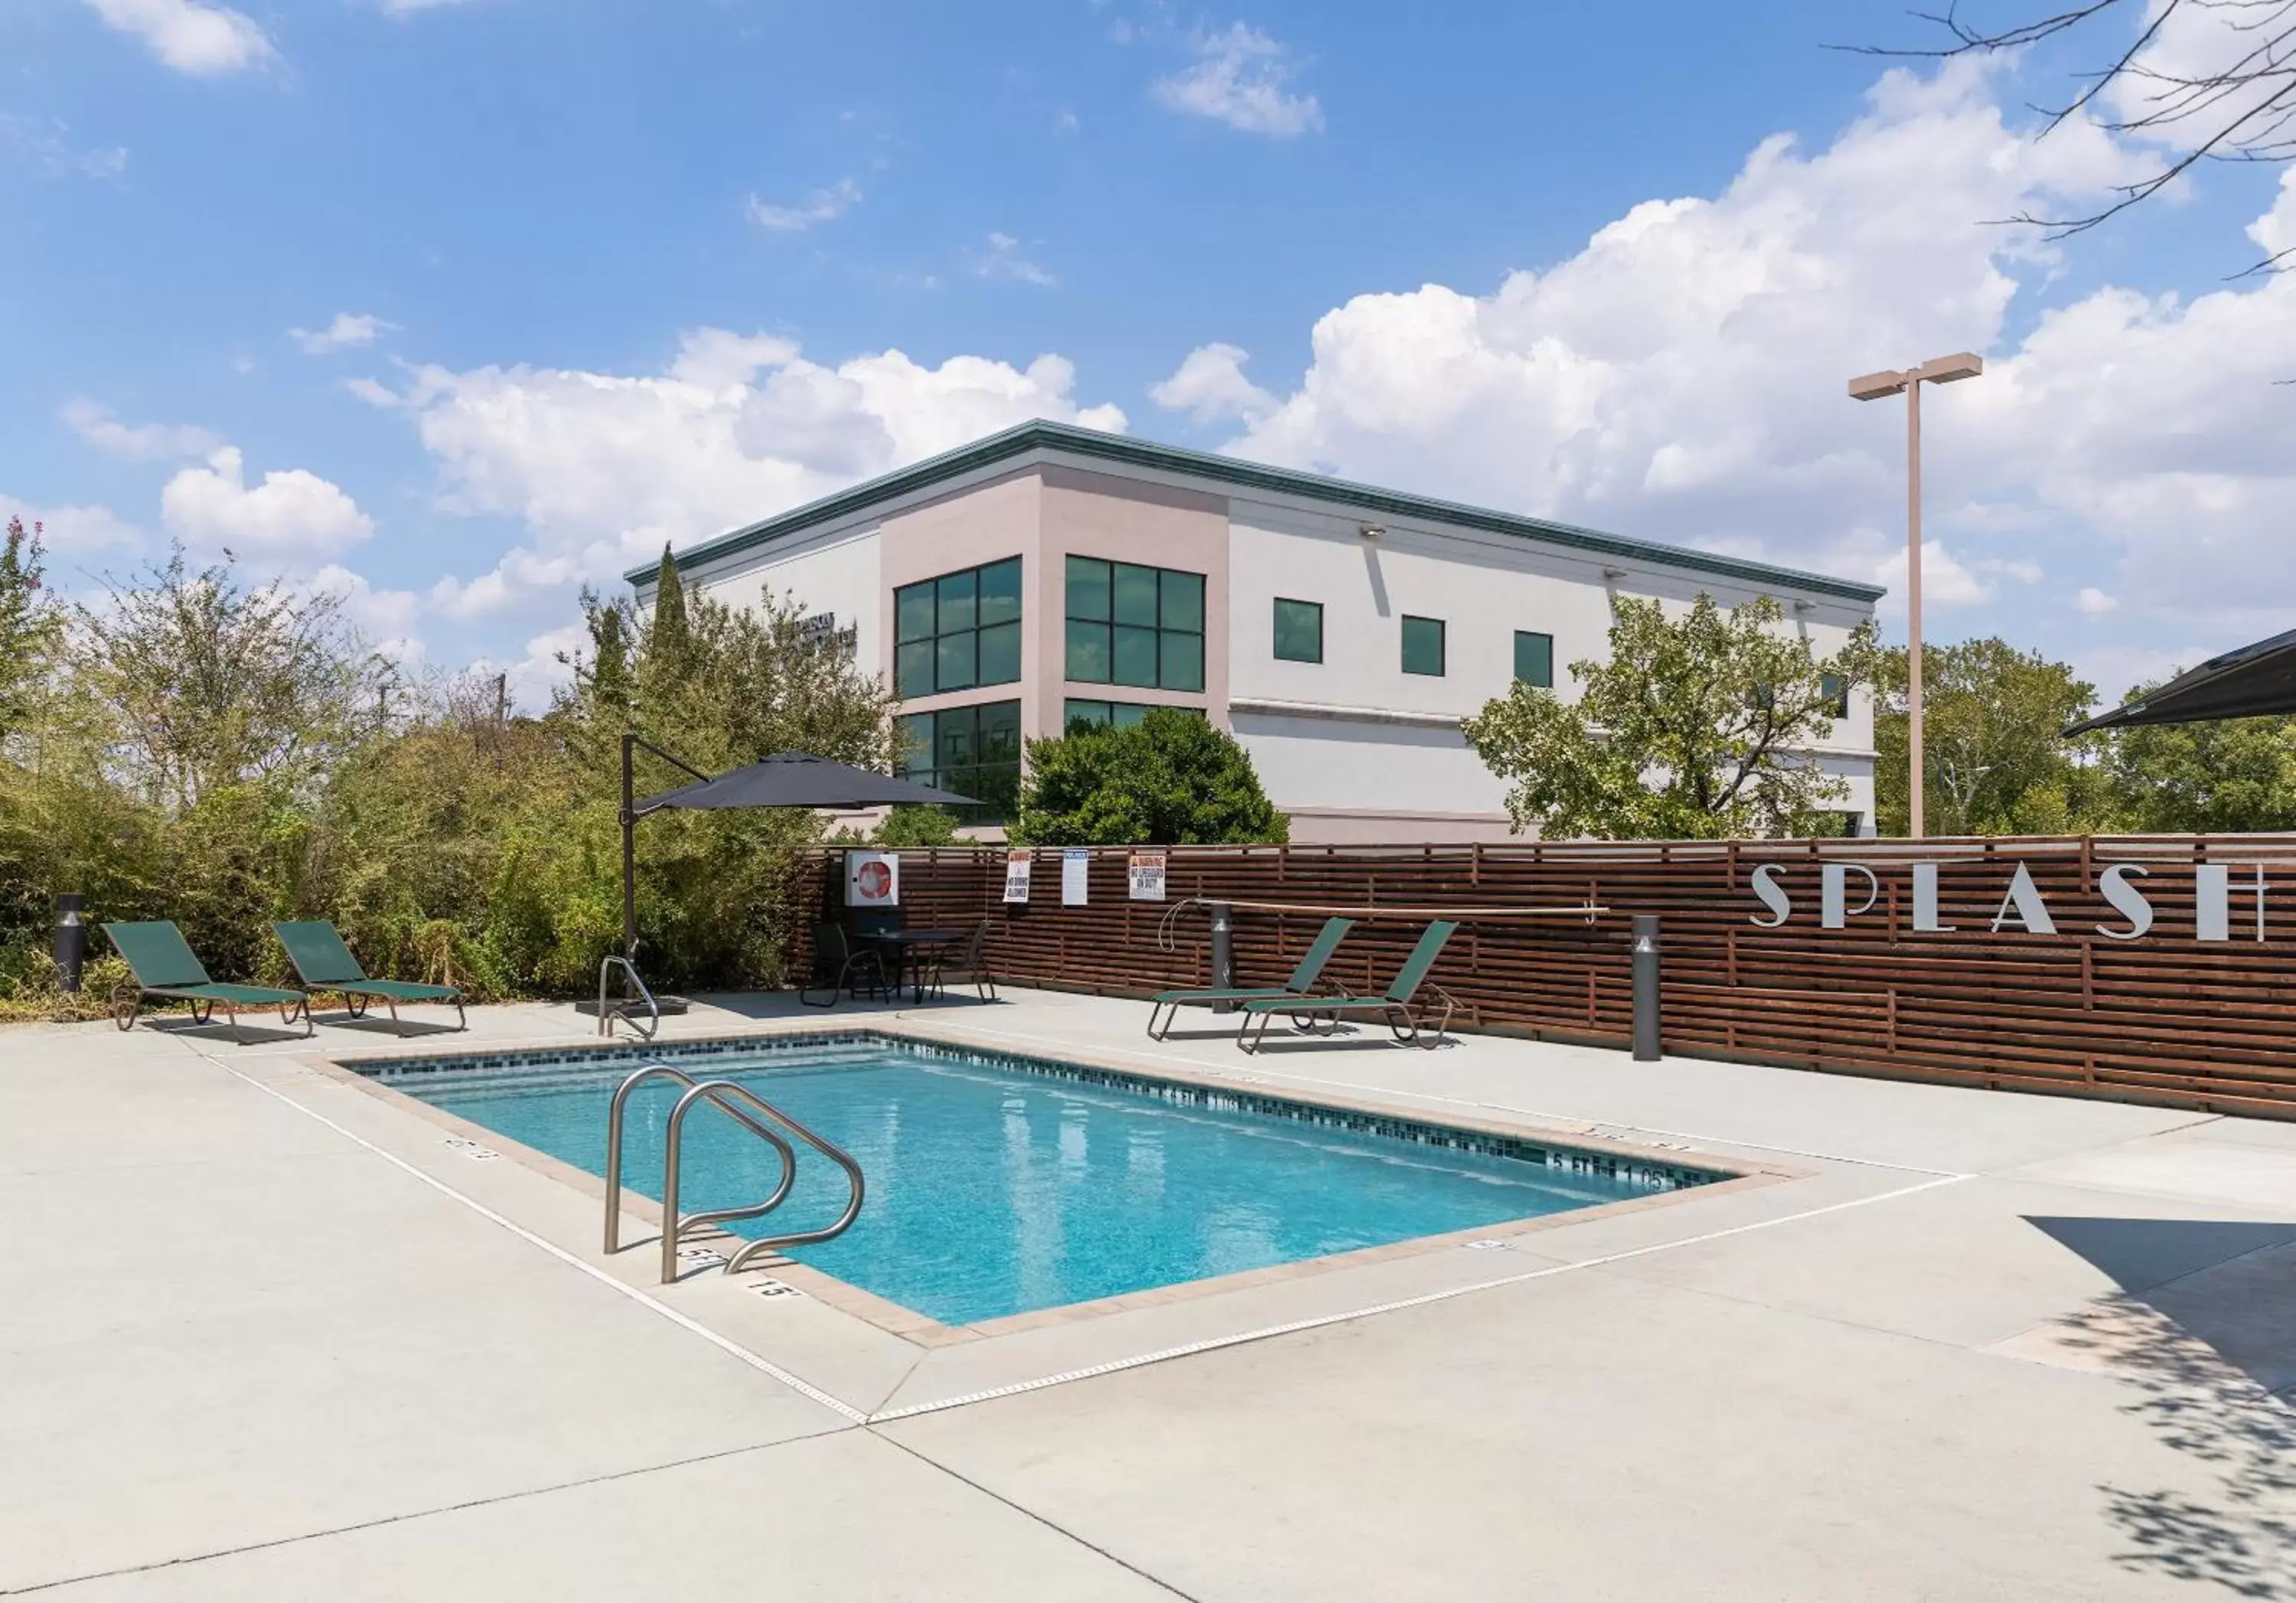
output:
M2046 248L1988 220L2158 152L2030 138L2078 51L1823 48L1896 39L1864 0L18 0L0 505L67 581L232 547L533 698L581 581L1033 413L1890 581L1899 413L1841 381L1970 347L1933 638L2117 694L2296 622L2296 303L2225 282L2278 175Z

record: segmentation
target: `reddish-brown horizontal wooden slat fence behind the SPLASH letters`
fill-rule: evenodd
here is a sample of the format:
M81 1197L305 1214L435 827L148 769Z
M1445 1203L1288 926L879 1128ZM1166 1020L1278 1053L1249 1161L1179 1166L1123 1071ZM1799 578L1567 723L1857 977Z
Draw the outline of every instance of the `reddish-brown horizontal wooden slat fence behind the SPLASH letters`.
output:
M1949 928L1915 930L1915 861L1938 864ZM1756 923L1770 916L1752 889L1761 864L1791 896L1779 928ZM1841 928L1821 928L1823 864L1878 882ZM2002 916L2018 864L2053 935ZM2101 889L2115 864L2144 870L2128 875L2154 912L2140 939L2103 932L2128 930ZM2202 864L2229 868L2227 939L2200 939ZM1176 948L1157 948L1182 898L1458 909L1435 981L1465 1029L1623 1047L1628 916L1660 914L1669 1052L2296 1118L2296 836L1171 847L1164 905L1127 900L1125 866L1125 850L1095 847L1091 903L1063 907L1061 854L1038 850L1031 903L1006 907L1001 847L912 850L905 919L990 919L999 976L1141 997L1208 981L1203 909L1182 909ZM1857 909L1867 880L1846 880ZM831 854L822 896L836 884ZM1607 912L1474 919L1545 905ZM1279 983L1320 923L1240 909L1238 983ZM1332 974L1375 992L1417 932L1417 919L1373 919Z

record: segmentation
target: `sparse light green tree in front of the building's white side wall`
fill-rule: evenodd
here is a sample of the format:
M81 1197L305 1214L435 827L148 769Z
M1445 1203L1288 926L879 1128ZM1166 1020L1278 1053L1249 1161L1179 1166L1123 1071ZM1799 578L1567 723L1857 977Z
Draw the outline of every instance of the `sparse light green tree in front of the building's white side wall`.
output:
M1508 781L1518 831L1720 838L1805 831L1848 795L1807 751L1841 696L1874 677L1874 627L1821 657L1782 609L1722 609L1699 595L1681 618L1619 597L1609 661L1575 661L1580 698L1515 682L1460 728Z

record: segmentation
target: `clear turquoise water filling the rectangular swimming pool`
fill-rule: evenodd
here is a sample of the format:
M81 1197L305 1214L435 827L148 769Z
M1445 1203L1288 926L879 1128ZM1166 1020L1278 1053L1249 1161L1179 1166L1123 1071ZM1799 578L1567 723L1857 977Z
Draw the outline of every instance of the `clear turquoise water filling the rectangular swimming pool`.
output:
M1525 1148L1529 1157L1465 1151L1208 1107L1192 1091L1157 1091L1153 1082L1093 1084L884 1043L680 1066L753 1089L861 1162L861 1219L836 1240L799 1247L794 1259L948 1325L1591 1208L1685 1178L1605 1174L1605 1164L1568 1153L1538 1162L1536 1148ZM393 1084L604 1174L606 1102L627 1072L625 1061L409 1075ZM629 1105L622 1176L654 1199L677 1093L657 1079ZM776 1176L771 1148L714 1109L687 1118L687 1213L760 1201ZM831 1222L843 1203L843 1174L799 1146L790 1201L728 1229L810 1229Z

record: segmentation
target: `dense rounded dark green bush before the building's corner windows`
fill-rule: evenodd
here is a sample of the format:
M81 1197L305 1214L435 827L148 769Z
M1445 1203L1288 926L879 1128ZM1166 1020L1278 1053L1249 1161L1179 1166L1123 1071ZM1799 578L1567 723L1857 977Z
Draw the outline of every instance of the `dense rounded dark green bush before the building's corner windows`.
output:
M1155 707L1127 728L1029 742L1019 820L1029 845L1288 841L1235 737L1199 712Z

